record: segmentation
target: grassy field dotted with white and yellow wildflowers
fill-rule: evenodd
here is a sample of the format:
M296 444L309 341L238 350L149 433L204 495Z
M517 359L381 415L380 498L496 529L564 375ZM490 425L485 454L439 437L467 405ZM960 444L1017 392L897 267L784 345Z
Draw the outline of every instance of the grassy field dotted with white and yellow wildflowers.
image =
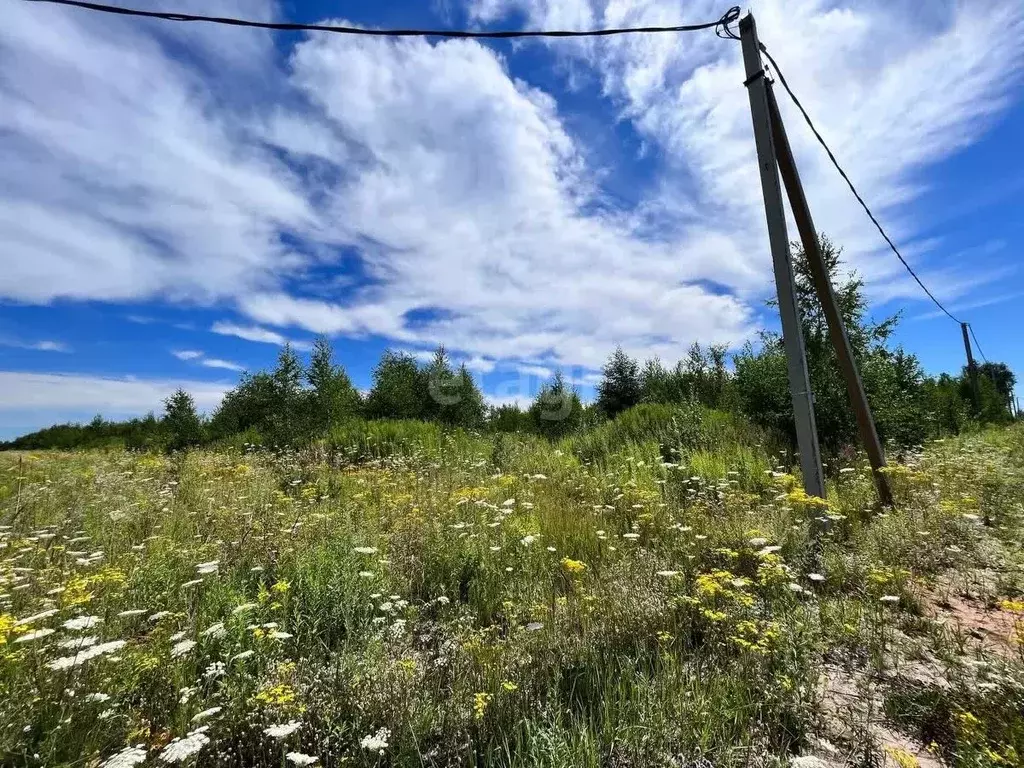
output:
M606 432L0 454L0 759L1024 764L1024 430Z

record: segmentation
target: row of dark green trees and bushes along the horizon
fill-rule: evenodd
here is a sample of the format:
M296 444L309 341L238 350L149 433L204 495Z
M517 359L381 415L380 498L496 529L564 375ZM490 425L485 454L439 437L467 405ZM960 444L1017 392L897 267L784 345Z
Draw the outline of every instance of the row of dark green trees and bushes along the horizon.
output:
M957 375L926 376L914 355L890 344L898 315L881 323L870 321L862 282L849 275L837 284L840 249L824 237L821 244L884 441L914 445L929 437L957 434L974 424L1013 419L1016 380L1006 365L978 367L977 404L966 368ZM856 424L806 260L797 246L794 264L818 432L823 450L835 454L856 444ZM465 366L453 367L443 347L423 365L404 352L385 352L364 397L334 361L330 342L321 338L308 366L286 346L272 371L243 374L208 419L197 413L191 396L179 390L165 401L161 417L150 414L110 422L97 416L89 424L56 425L24 435L0 443L0 450L176 451L210 443L284 446L330 438L332 433L352 434L353 425L381 420L558 439L597 427L643 403L724 412L788 436L792 442L793 409L782 340L777 333L764 332L759 341L733 355L731 370L724 346L694 344L684 359L671 367L657 359L641 365L616 349L604 367L593 403L585 404L561 373L556 373L529 407L520 409L515 404L487 407L472 375Z

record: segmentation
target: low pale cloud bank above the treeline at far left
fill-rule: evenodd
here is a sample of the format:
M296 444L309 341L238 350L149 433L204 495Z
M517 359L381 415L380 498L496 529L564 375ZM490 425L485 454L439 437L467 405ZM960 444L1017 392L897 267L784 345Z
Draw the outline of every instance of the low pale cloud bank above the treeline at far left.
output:
M176 389L189 392L201 411L211 412L228 389L206 381L134 379L0 371L0 432L13 436L95 414L126 419L160 413Z

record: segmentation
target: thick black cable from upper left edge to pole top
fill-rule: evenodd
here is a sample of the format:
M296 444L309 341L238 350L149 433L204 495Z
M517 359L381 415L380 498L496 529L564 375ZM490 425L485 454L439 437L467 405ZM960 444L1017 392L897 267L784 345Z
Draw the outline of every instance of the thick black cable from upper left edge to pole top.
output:
M139 16L142 18L159 18L165 22L206 22L208 24L226 25L229 27L250 27L260 30L280 30L284 32L333 32L341 35L369 35L371 37L436 37L436 38L479 38L489 40L506 40L525 37L608 37L611 35L649 34L660 32L699 32L714 29L720 37L732 37L729 25L739 18L739 6L729 8L713 22L700 24L678 25L675 27L622 27L608 30L375 30L361 27L343 27L327 24L297 24L291 22L259 22L249 18L233 18L230 16L204 16L193 13L174 13L170 11L141 10L124 8L118 5L90 3L85 0L26 0L34 3L52 3L70 5L75 8L115 13L122 16Z

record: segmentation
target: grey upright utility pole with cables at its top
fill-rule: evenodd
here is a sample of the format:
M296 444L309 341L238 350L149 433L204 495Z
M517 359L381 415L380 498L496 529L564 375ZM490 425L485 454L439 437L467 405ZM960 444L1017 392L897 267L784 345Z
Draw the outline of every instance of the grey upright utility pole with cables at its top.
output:
M772 140L771 119L768 106L768 88L764 63L761 61L761 44L758 41L754 15L748 13L739 22L739 37L746 69L746 93L751 99L751 117L754 120L754 139L761 171L761 191L765 200L765 218L768 223L768 243L771 247L775 269L775 290L778 293L779 314L782 317L782 343L793 398L793 418L797 428L797 446L800 450L800 469L804 477L804 490L819 499L825 497L824 472L821 469L821 450L818 430L814 423L814 395L807 374L804 352L804 333L797 305L797 292L790 260L790 237L782 208L782 189L778 182L775 145Z

